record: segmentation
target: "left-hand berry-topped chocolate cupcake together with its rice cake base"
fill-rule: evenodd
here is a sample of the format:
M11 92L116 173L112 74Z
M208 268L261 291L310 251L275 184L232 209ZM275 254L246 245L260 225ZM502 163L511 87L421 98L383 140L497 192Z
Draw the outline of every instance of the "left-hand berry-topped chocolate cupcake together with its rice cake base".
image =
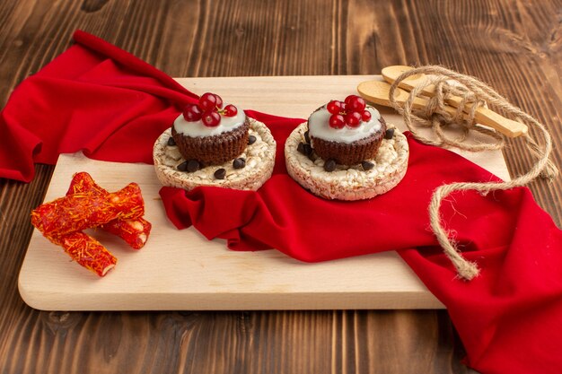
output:
M154 169L164 186L255 191L271 177L276 150L268 126L207 92L158 137Z

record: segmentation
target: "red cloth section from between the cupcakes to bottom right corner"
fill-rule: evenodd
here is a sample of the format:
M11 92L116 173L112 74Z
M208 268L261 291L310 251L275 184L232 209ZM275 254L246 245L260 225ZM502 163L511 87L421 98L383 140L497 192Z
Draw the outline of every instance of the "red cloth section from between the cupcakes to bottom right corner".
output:
M268 124L277 145L302 122L248 114ZM446 226L481 269L471 282L458 279L429 229L431 195L445 183L499 179L453 152L409 136L408 143L405 178L368 201L312 196L286 173L279 146L274 175L257 192L163 187L161 196L179 229L193 225L235 250L277 248L309 262L398 250L449 310L470 367L562 372L562 231L527 188L453 194L442 208Z

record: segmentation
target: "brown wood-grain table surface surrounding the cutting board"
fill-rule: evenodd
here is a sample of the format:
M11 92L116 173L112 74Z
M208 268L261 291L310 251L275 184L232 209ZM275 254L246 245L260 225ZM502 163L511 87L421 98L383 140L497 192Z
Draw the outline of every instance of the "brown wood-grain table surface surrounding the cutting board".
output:
M560 165L562 1L3 0L0 106L76 29L171 76L380 74L440 64L537 117ZM272 88L273 89L273 88ZM512 175L531 167L522 142ZM0 373L467 373L445 310L40 312L17 277L53 166L0 179ZM562 179L531 185L562 223Z

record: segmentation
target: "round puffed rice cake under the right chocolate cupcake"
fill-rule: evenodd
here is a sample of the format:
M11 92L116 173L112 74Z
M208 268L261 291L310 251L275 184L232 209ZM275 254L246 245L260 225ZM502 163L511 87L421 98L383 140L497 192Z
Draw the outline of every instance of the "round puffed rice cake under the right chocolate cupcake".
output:
M393 126L389 125L389 128ZM298 152L305 143L306 122L297 126L285 143L285 163L289 175L314 195L334 200L363 200L382 195L396 187L408 169L408 140L394 129L391 139L383 139L370 170L362 164L336 165L335 170L324 170L324 161L312 154Z

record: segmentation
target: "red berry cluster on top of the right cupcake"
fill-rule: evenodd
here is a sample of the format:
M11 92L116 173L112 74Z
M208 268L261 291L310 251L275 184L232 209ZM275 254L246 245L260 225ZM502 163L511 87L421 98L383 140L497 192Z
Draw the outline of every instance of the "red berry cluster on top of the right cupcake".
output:
M363 98L357 95L347 96L344 102L338 100L329 101L326 109L329 116L329 126L333 128L343 128L344 126L359 127L361 120L367 122L371 119L371 112L365 110Z

